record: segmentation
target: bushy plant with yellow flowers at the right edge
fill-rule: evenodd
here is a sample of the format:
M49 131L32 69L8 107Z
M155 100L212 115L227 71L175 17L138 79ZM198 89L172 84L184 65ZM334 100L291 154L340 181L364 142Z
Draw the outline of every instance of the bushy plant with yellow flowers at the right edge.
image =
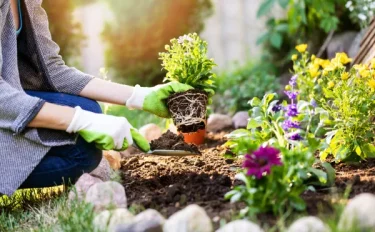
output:
M375 157L375 60L348 69L351 59L337 53L322 60L307 51L294 57L300 99L314 99L321 113L319 126L326 130L320 157L332 154L337 161Z

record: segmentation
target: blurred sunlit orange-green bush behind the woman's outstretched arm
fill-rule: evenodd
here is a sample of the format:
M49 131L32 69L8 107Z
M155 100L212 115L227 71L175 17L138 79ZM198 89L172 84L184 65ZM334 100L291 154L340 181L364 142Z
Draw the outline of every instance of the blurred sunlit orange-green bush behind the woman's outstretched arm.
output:
M108 0L107 4L115 21L103 31L106 66L116 82L126 84L160 83L165 74L159 52L172 38L200 32L212 13L210 0L163 0L163 4L160 0Z

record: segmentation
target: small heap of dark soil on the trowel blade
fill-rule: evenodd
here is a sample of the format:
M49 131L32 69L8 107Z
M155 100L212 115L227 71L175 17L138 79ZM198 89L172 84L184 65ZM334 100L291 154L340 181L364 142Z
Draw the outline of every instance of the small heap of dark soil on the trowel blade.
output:
M176 135L167 131L160 138L151 141L151 150L183 150L194 154L201 154L198 147L194 144L187 144L182 134Z

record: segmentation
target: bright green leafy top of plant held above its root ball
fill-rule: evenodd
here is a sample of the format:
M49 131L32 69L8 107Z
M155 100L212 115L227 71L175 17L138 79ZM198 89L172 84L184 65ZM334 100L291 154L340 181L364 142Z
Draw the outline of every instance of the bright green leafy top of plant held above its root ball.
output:
M166 45L167 52L159 53L162 66L167 71L165 81L177 81L214 93L212 68L216 66L213 59L207 58L207 42L196 33L172 39Z

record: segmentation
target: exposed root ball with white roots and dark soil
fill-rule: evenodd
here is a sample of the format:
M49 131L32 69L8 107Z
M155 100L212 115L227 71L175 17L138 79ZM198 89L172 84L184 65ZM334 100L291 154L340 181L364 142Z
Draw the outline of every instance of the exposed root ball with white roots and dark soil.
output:
M196 132L206 127L208 97L202 90L188 90L168 97L167 106L177 130Z

